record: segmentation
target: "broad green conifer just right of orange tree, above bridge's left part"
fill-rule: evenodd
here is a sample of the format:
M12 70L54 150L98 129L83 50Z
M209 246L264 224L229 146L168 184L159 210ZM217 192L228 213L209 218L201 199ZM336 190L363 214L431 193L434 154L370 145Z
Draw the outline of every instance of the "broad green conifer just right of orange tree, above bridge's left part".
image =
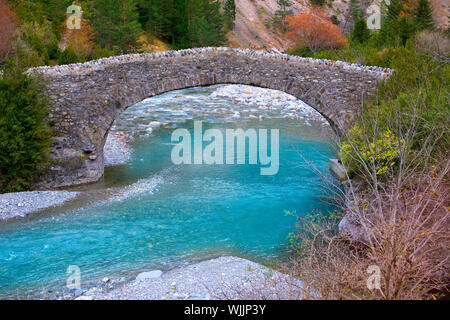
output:
M97 0L94 3L93 26L97 42L121 52L133 50L141 30L135 1Z

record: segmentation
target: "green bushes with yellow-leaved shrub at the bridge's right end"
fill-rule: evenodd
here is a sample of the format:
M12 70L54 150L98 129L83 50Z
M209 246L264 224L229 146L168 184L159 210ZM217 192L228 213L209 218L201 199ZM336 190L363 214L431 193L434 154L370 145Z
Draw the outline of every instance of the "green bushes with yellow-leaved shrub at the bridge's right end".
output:
M407 138L407 154L414 155L424 147L425 141L431 140L429 152L433 161L437 163L447 157L450 148L450 66L447 60L436 59L426 52L427 48L421 51L409 42L406 46L384 48L376 54L369 45L360 48L368 64L389 67L395 72L379 85L377 99L366 103L361 119L341 146L342 160L350 171L363 171L358 170L361 163L350 161L359 154L364 161L375 161L377 173L382 176L391 165L395 166L396 152L401 148L398 141L408 134L409 128L414 128L414 134ZM350 59L354 60L355 51L355 48L345 49L335 55L349 52ZM378 136L368 142L362 137L373 136L375 113ZM399 139L392 140L392 137ZM397 146L391 144L395 141ZM357 146L356 150L352 144ZM406 161L422 165L421 158L410 156Z

